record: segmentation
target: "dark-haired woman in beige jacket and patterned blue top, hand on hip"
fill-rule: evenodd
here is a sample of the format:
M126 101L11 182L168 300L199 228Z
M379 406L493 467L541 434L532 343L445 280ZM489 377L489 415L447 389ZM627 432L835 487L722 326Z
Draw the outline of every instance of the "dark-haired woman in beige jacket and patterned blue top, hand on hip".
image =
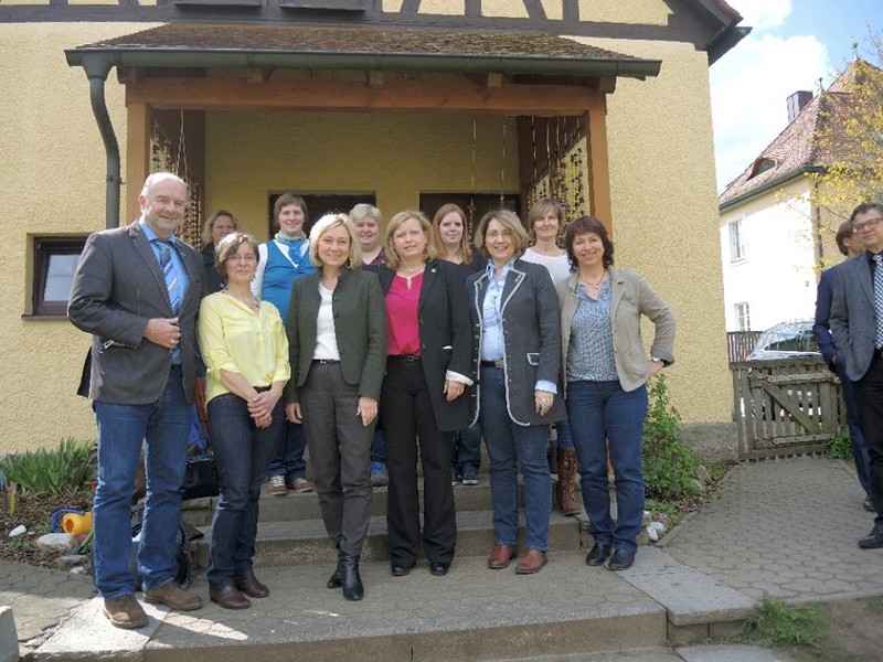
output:
M614 245L594 216L564 239L571 277L558 286L567 416L579 457L583 503L595 545L591 566L621 570L635 560L643 516L641 441L649 377L674 362L674 316L647 281L614 268ZM641 316L656 327L650 361ZM607 453L616 478L617 520L610 516Z

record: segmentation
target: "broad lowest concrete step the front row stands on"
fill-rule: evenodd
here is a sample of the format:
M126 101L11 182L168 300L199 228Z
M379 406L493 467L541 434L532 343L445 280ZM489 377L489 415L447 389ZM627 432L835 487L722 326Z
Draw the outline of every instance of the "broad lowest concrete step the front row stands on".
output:
M564 660L667 643L666 608L623 574L586 567L581 552L553 553L530 576L511 567L489 570L483 556L458 556L447 577L432 576L425 562L402 578L390 575L387 563L362 563L360 602L327 589L327 574L315 566L280 566L258 577L270 596L230 611L209 602L200 573L191 588L205 600L201 610L148 605L150 624L138 631L113 628L96 598L41 648L40 659L480 662Z

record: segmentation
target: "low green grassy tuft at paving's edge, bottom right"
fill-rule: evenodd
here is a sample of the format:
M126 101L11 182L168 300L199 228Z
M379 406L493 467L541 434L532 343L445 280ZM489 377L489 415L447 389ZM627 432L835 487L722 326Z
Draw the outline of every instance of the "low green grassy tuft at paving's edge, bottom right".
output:
M759 645L816 648L828 631L828 620L819 606L791 606L770 598L755 607L745 624L745 639Z

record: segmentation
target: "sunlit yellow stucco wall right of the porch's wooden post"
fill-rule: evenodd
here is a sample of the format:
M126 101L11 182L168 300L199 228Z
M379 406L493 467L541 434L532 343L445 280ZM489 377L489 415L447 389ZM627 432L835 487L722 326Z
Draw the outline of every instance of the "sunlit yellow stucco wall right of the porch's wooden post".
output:
M616 264L637 269L674 311L677 363L666 374L684 421L730 420L706 55L675 43L591 43L662 60L658 77L620 79L607 103Z

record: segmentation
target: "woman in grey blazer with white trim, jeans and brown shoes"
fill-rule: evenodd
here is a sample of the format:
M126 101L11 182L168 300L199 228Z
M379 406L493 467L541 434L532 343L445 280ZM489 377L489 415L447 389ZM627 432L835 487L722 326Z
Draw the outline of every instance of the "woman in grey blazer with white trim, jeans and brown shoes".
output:
M496 545L488 567L501 569L518 543L518 469L524 482L526 551L519 575L546 563L552 476L549 426L564 418L557 397L561 369L558 302L545 267L519 259L528 234L519 217L497 210L481 218L476 246L487 269L467 280L479 348L478 420L490 457Z

